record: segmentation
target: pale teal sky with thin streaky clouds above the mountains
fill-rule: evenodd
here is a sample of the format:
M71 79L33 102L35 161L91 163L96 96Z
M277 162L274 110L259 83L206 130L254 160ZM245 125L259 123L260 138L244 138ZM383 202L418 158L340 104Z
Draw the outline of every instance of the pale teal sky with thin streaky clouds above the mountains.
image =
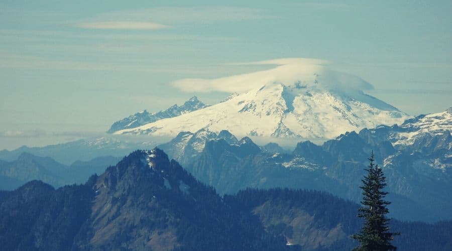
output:
M132 113L214 104L181 88L312 58L411 115L452 106L452 2L0 1L0 149L99 135ZM182 80L181 80L182 79Z

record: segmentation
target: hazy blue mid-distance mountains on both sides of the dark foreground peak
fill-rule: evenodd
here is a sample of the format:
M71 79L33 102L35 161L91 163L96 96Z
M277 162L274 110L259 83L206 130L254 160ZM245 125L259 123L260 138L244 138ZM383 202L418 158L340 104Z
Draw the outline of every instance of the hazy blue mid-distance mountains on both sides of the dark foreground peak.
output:
M356 202L361 198L357 187L363 167L374 150L388 177L391 217L433 222L452 218L450 196L444 192L452 190L451 118L449 108L399 126L345 133L322 145L299 142L293 151L274 143L257 146L247 137L207 129L181 132L159 148L219 194L247 187L290 187L326 191ZM122 158L139 148L143 144L105 137L0 151L0 159L8 160L0 161L0 189L12 190L33 179L55 187L81 183L118 161L98 157Z

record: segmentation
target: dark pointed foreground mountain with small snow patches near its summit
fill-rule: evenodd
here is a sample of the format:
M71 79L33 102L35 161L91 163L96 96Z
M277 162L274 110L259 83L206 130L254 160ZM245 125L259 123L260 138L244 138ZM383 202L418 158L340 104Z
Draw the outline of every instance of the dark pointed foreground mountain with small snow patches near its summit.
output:
M3 192L0 214L8 250L296 248L158 149L136 151L85 185L54 190L33 181Z

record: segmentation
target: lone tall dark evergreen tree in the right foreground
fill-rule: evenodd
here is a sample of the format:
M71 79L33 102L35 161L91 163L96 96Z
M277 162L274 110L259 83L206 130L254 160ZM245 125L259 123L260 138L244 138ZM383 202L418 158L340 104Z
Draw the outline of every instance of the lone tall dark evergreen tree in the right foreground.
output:
M386 178L383 170L374 165L374 152L369 158L370 164L367 171L367 176L362 180L363 190L362 206L359 209L358 217L364 218L364 225L361 231L352 235L352 238L358 240L360 245L354 250L396 250L396 247L391 244L393 235L400 233L389 232L389 218L386 214L389 213L386 207L391 202L384 200L388 194L383 191L386 186Z

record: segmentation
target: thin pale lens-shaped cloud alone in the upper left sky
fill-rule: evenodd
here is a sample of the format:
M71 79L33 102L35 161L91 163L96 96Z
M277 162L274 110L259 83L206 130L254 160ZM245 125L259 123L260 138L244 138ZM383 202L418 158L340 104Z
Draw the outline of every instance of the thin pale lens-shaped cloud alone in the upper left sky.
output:
M115 22L87 22L75 25L85 29L112 29L112 30L161 30L170 28L167 25L151 23L151 22L131 22L131 21L115 21Z

